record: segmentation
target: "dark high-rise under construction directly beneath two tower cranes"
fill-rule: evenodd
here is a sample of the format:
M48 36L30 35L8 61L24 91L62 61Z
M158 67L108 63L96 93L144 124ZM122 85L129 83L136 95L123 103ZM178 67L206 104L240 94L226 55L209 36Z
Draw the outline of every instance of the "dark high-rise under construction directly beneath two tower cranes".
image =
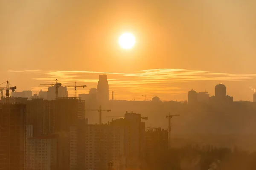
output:
M83 166L84 154L84 101L77 98L54 100L54 133L58 134L57 167L61 170L77 170ZM83 144L85 141L83 142ZM80 147L81 146L81 147ZM83 159L81 162L80 160ZM79 165L77 165L79 164ZM79 167L78 167L79 166Z

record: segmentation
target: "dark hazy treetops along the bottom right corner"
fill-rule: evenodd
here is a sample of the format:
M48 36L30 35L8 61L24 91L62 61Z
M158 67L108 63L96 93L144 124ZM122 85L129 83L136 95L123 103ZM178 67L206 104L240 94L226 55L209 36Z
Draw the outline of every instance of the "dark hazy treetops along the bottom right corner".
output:
M256 170L256 152L186 146L147 158L147 170Z

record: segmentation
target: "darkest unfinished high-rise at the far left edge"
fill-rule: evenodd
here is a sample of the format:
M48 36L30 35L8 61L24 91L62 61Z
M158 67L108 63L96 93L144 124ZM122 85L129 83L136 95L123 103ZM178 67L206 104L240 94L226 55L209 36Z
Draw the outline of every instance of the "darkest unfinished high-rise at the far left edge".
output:
M26 105L0 104L0 170L24 170Z

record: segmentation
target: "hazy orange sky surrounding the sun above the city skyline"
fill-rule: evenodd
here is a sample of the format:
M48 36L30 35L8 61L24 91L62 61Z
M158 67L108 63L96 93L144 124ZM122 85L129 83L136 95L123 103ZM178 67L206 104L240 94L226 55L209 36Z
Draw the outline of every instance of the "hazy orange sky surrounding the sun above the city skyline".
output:
M252 100L255 8L254 0L3 0L0 82L36 92L58 78L89 89L108 73L116 99L184 100L223 82L235 100ZM137 40L131 50L118 45L126 31Z

